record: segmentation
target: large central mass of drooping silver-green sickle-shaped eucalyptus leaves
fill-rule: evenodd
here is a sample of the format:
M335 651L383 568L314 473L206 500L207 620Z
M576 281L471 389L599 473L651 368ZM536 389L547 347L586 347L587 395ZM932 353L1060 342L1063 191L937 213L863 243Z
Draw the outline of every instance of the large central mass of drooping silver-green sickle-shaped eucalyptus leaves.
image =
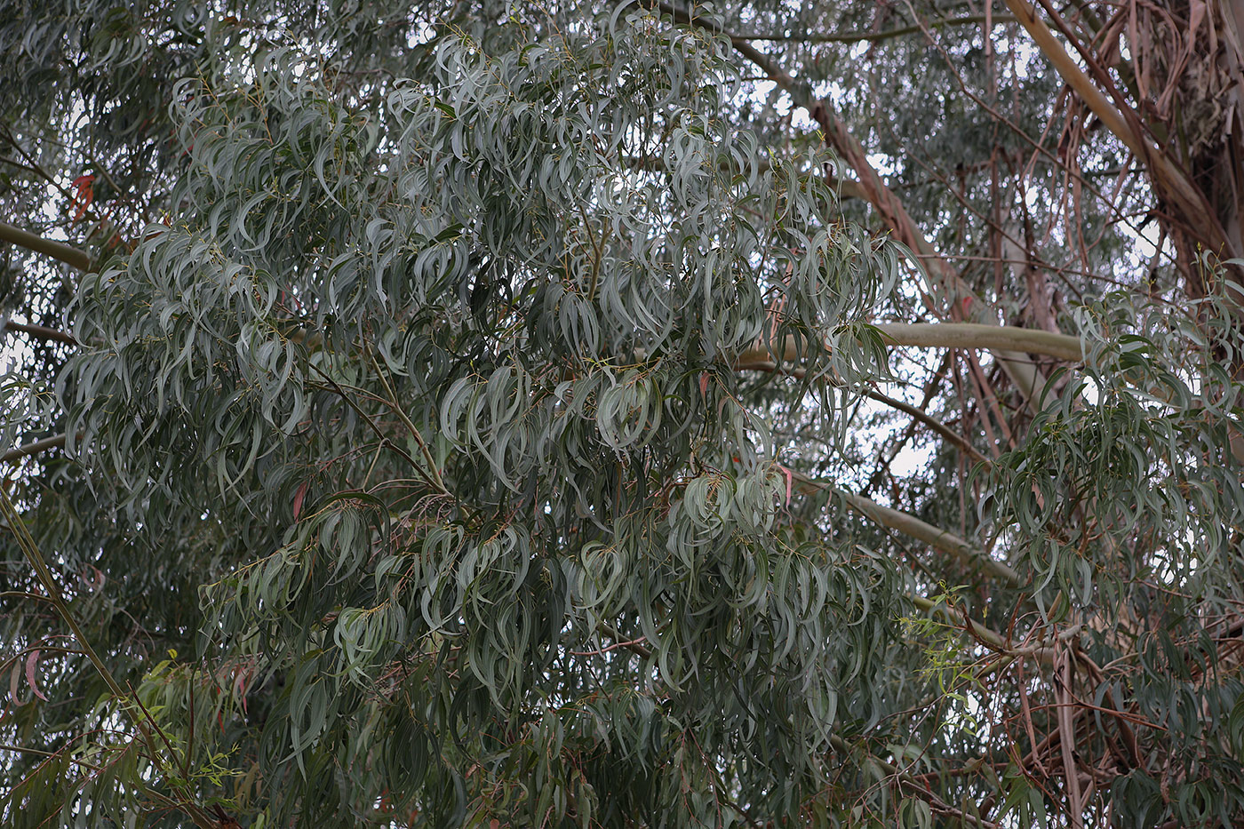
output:
M170 215L81 283L62 381L151 533L244 534L202 594L229 680L141 693L256 753L254 819L794 815L880 714L899 580L789 523L733 360L877 371L898 256L713 116L722 41L511 37L371 110L296 44L175 86Z

